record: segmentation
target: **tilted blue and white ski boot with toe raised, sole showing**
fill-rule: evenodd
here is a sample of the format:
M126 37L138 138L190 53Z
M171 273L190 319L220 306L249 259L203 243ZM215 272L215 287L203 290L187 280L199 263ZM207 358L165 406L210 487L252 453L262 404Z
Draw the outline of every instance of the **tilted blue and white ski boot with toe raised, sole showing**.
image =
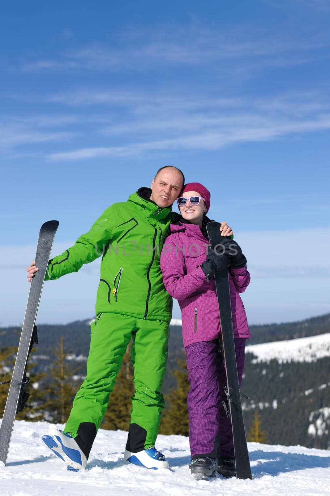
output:
M66 463L68 470L79 472L86 467L87 458L71 434L63 433L59 429L50 429L41 438L46 446Z

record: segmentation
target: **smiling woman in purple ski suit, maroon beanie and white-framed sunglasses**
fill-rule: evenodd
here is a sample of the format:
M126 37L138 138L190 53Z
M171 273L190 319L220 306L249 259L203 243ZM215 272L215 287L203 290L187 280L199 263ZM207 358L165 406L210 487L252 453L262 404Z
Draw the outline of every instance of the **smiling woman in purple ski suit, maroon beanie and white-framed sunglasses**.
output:
M230 265L229 286L239 386L244 369L244 347L250 338L239 293L250 282L246 258L235 241L224 238L226 256L207 249L206 212L210 192L199 183L187 184L178 198L181 219L170 225L160 257L168 293L179 301L190 390L188 393L191 473L215 476L236 474L231 421L222 400L227 384L221 353L221 325L214 273ZM228 250L228 243L232 248ZM234 246L234 251L233 251ZM235 252L235 254L233 254Z

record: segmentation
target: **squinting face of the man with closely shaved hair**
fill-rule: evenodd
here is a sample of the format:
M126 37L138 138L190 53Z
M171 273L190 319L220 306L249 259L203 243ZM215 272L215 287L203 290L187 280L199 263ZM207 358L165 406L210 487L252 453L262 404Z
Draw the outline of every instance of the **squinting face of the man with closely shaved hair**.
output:
M183 177L180 172L170 167L163 169L152 180L150 200L154 201L159 207L169 207L178 198L182 186Z

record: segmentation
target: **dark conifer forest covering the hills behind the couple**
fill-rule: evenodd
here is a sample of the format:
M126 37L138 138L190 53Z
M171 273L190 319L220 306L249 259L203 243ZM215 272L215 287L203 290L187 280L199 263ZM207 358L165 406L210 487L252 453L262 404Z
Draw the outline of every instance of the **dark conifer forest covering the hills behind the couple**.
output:
M85 332L85 329L88 329L83 323L75 323L75 325L81 335L82 330ZM296 328L298 327L296 324ZM312 327L314 331L316 328L314 323ZM305 330L306 326L301 328ZM60 329L67 331L67 326L62 326ZM88 347L84 346L83 339L80 339L76 354L72 355L74 329L73 326L69 340L67 332L57 335L52 333L51 340L48 340L48 348L45 345L33 348L27 370L30 375L28 392L31 396L24 411L17 415L17 419L65 423L75 393L86 374L85 355L88 353ZM2 336L3 332L6 334L10 332L11 342L14 340L18 343L17 330L16 332L13 328L2 330ZM43 332L40 334L43 339ZM283 328L280 335L283 335ZM180 340L181 329L172 328L168 370L163 388L166 407L162 416L160 434L189 435L188 371ZM5 342L9 342L8 336ZM50 345L52 353L50 353ZM17 344L0 349L0 382L10 380L16 351ZM77 352L80 352L80 355L77 355ZM242 401L248 439L271 444L301 444L329 449L330 416L327 417L326 412L330 405L330 357L319 359L314 363L286 364L281 364L277 360L271 360L268 364L253 363L253 358L250 353L246 354L242 383L242 392L250 397ZM128 347L101 428L127 431L131 397L134 394L133 374L130 347ZM8 388L9 384L0 385L0 417L4 410ZM317 431L316 427L313 427L320 423L324 426L321 434L320 430Z

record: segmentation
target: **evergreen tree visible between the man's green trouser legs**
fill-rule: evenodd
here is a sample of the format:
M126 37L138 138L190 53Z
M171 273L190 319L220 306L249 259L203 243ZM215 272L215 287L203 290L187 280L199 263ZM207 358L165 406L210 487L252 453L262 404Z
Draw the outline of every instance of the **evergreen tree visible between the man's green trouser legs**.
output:
M134 394L133 375L134 369L131 363L129 346L118 372L115 387L110 394L109 406L105 412L101 428L112 431L117 429L128 430L132 410L132 396Z

